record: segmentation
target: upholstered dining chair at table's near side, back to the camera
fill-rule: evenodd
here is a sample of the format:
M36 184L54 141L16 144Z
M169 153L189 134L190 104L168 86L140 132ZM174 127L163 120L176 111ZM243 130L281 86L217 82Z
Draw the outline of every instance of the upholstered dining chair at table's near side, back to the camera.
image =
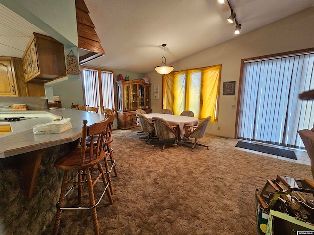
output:
M170 126L166 120L159 117L152 117L152 122L154 124L155 135L158 138L163 139L163 146L161 151L163 152L165 150L166 141L168 139L175 138L173 146L177 147L179 126L178 125Z

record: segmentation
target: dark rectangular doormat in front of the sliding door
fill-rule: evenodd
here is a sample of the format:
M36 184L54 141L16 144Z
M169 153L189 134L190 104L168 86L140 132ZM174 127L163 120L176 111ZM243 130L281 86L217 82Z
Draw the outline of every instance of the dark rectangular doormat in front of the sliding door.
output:
M250 150L254 150L254 151L258 151L262 153L268 153L268 154L272 154L276 156L281 156L281 157L297 160L295 153L291 150L268 147L268 146L263 146L260 144L247 143L247 142L241 142L241 141L238 141L235 147L250 149Z

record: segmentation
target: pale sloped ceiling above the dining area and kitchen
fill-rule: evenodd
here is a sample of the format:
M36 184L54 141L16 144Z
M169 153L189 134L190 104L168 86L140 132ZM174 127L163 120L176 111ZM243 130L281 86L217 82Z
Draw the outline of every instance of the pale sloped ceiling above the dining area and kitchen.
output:
M105 50L105 56L88 64L143 74L161 64L163 43L167 44L169 65L314 7L314 0L229 0L242 25L241 34L235 35L235 23L226 20L230 15L228 4L220 5L216 0L84 1ZM1 5L0 14L0 55L21 57L29 40L26 31L43 32L36 27L25 28L23 19L14 19L20 23L16 29Z

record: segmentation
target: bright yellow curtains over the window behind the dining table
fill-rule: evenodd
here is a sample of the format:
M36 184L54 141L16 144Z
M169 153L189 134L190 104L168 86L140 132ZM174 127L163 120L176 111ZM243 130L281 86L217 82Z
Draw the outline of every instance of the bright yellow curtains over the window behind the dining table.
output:
M163 76L163 108L179 115L191 110L199 119L214 122L221 65L172 72Z

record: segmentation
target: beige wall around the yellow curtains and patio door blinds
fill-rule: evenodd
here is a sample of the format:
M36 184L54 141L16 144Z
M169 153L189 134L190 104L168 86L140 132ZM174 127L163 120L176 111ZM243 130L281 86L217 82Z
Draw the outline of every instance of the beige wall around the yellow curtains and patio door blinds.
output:
M244 27L243 23L242 28ZM219 117L217 122L209 123L207 133L233 138L236 109L232 109L231 105L235 104L237 107L241 59L312 47L314 47L314 7L247 34L235 36L228 42L185 58L172 66L175 67L175 71L179 71L222 64ZM161 87L161 75L154 71L147 76L150 77L152 88L155 85ZM236 81L235 96L222 95L222 84L226 81ZM161 93L159 98L153 100L151 97L153 112L161 110Z

